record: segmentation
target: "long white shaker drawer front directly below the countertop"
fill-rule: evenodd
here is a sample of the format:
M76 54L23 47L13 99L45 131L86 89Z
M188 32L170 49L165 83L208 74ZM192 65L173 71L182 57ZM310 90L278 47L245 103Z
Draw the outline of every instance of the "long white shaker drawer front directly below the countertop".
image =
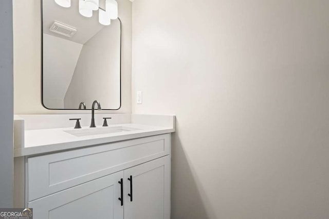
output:
M170 153L170 134L28 158L28 201Z

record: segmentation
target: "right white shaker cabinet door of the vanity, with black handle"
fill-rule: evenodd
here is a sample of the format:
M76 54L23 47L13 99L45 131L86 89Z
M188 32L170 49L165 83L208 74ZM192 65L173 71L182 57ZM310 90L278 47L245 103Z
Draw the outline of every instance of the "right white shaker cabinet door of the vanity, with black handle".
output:
M124 171L124 219L170 219L170 156Z

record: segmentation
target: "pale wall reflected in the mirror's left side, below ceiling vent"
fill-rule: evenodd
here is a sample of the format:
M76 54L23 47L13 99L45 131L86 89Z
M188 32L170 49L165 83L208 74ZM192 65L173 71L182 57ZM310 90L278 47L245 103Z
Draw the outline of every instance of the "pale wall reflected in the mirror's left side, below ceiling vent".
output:
M45 33L43 44L44 105L49 109L63 109L83 45Z

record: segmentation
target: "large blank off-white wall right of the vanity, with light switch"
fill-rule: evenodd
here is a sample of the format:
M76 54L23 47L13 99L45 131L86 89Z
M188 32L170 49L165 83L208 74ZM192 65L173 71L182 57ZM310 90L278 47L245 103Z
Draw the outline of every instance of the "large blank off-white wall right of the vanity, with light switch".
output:
M329 218L328 8L133 3L133 112L177 116L173 219Z

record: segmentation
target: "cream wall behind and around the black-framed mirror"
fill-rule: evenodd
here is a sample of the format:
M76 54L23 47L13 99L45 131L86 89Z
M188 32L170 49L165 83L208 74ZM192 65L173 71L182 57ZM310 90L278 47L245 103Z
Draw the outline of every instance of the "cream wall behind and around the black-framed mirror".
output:
M122 107L102 113L131 112L132 3L118 0L122 21ZM14 113L57 114L90 111L47 110L41 104L40 0L13 1L14 28Z

